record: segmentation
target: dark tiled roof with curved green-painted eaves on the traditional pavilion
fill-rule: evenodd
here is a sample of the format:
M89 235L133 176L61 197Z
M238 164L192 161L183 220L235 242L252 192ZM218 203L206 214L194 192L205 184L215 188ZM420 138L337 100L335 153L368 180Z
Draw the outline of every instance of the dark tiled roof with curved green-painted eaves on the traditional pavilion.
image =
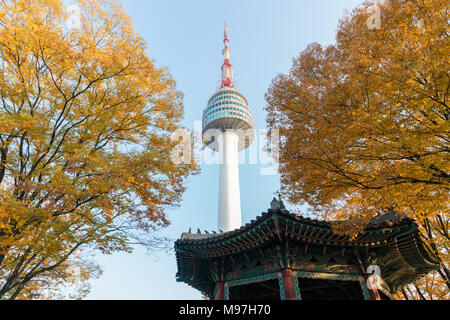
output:
M207 261L286 241L298 245L350 248L357 252L370 249L378 255L385 255L387 264L391 260L388 256L397 256L398 259L384 269L385 273L401 269L395 275L385 274L388 279L392 279L390 285L394 287L410 283L437 268L436 258L424 247L418 226L411 219L395 213L377 217L355 238L336 233L333 224L340 223L305 218L282 207L269 209L255 220L230 232L183 233L175 242L177 280L203 290L206 279L202 277L208 268ZM365 259L364 254L361 257ZM362 263L370 264L369 261Z

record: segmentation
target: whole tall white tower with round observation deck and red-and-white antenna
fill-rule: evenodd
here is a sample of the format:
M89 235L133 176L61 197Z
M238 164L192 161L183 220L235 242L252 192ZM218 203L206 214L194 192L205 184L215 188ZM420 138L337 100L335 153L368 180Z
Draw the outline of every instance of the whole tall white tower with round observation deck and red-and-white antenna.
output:
M210 129L216 132L206 145L219 153L218 230L227 232L242 225L238 152L253 141L254 117L247 99L233 84L226 24L223 43L222 81L203 111L203 134L207 137Z

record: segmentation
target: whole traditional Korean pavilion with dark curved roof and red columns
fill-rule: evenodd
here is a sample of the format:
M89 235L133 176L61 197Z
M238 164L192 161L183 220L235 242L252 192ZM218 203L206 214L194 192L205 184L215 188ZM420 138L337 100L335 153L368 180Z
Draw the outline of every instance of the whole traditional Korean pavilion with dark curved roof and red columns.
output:
M392 299L438 268L410 219L381 216L350 239L276 199L239 229L183 233L175 251L177 281L216 300Z

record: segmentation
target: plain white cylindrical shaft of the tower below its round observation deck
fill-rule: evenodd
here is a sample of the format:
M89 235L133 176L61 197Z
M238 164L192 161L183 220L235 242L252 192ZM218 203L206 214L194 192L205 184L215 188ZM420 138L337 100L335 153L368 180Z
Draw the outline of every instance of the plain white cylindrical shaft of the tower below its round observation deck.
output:
M239 136L227 131L220 135L219 143L219 230L224 232L242 226L241 197L239 192Z

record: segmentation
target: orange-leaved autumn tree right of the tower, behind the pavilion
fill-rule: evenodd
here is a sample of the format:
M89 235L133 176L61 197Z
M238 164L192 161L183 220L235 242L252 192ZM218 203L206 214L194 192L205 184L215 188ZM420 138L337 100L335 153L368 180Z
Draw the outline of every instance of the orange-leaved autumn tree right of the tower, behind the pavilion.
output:
M440 0L363 4L334 45L310 44L266 94L284 195L353 234L385 212L415 219L440 261L405 288L419 298L450 297L448 10Z

